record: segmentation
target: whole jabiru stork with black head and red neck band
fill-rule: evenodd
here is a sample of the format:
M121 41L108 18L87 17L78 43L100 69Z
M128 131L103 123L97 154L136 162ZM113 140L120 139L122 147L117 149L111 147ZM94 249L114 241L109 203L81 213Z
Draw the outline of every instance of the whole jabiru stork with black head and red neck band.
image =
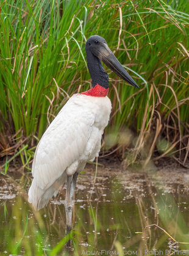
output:
M109 77L102 62L124 81L138 88L107 45L104 38L91 36L86 44L87 66L92 88L74 94L51 122L35 150L34 177L29 189L29 203L39 210L66 181L66 231L71 230L73 195L77 175L88 161L98 157L101 137L109 122L112 104Z

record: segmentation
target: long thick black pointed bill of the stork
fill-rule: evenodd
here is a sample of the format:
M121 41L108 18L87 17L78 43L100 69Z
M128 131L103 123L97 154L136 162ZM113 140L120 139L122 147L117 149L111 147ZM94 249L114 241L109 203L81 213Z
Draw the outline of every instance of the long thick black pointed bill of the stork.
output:
M138 85L135 83L135 81L130 77L129 73L124 69L124 67L121 65L121 63L116 59L115 55L113 55L110 48L105 45L105 47L101 48L98 52L98 57L101 59L104 64L112 69L113 72L115 72L119 77L121 77L124 81L129 83L132 86L135 86L137 88Z

